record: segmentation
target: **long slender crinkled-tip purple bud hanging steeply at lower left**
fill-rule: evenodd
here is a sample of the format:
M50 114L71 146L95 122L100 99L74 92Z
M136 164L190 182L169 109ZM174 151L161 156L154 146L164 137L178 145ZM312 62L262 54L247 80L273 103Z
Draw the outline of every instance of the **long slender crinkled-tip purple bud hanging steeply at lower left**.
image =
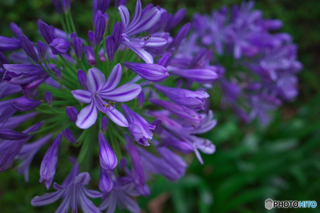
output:
M40 165L40 183L44 182L44 185L49 189L52 184L54 174L56 173L58 162L58 151L61 143L62 135L59 133L57 137L52 141L51 146L44 154Z

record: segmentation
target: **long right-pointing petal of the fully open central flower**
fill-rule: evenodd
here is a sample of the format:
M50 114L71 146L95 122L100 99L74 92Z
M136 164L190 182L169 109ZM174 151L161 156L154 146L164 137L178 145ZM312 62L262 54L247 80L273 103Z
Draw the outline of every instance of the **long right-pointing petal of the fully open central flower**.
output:
M141 86L139 84L124 84L109 92L101 93L99 95L109 101L126 102L131 101L137 97L141 92Z

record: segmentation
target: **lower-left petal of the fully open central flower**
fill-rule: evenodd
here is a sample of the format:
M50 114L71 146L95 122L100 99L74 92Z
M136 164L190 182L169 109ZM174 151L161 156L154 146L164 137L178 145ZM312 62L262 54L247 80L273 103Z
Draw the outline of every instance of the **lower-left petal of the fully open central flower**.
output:
M84 107L78 114L76 126L80 129L88 129L96 122L97 117L97 107L94 104L94 102L91 102L88 106Z

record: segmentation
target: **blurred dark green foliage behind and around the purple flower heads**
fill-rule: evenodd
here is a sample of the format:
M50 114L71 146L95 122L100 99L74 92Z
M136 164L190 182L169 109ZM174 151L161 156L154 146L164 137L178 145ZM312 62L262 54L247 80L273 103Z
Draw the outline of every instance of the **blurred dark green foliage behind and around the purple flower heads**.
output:
M142 0L142 4L159 4L170 12L187 8L190 21L194 12L209 13L238 0ZM133 11L135 1L128 0ZM16 22L31 39L38 39L36 20L60 27L58 14L50 0L0 0L0 34L11 36L9 23ZM220 110L219 94L211 92L212 109L218 125L205 137L217 146L215 154L202 155L201 165L195 156L185 156L190 164L188 174L177 183L162 177L150 182L151 195L139 198L145 212L276 212L267 210L264 202L273 200L320 200L320 2L318 0L265 0L256 8L265 17L281 19L281 31L292 34L299 45L299 60L305 66L299 74L300 95L274 113L268 127L239 122L231 111ZM92 28L91 1L72 1L72 13L82 37ZM61 27L60 27L61 28ZM47 190L38 183L39 165L45 150L41 149L30 168L30 182L9 169L0 173L0 212L54 212L59 202L32 207L35 195ZM55 179L61 181L71 165L67 150L60 150ZM98 163L98 162L91 162ZM99 171L90 172L89 187L97 186ZM52 189L50 189L51 191ZM99 199L94 202L99 203ZM318 202L320 205L320 202ZM320 212L316 209L281 209L279 212Z

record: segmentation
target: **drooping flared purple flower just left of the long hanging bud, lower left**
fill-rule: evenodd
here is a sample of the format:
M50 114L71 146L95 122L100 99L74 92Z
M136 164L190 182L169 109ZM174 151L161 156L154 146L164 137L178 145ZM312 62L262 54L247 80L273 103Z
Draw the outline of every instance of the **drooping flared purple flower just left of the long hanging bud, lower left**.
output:
M19 154L17 155L17 158L21 161L21 163L16 167L16 170L18 170L19 175L23 174L26 182L29 182L29 167L34 156L39 149L50 140L51 137L52 134L49 133L37 141L23 145Z

